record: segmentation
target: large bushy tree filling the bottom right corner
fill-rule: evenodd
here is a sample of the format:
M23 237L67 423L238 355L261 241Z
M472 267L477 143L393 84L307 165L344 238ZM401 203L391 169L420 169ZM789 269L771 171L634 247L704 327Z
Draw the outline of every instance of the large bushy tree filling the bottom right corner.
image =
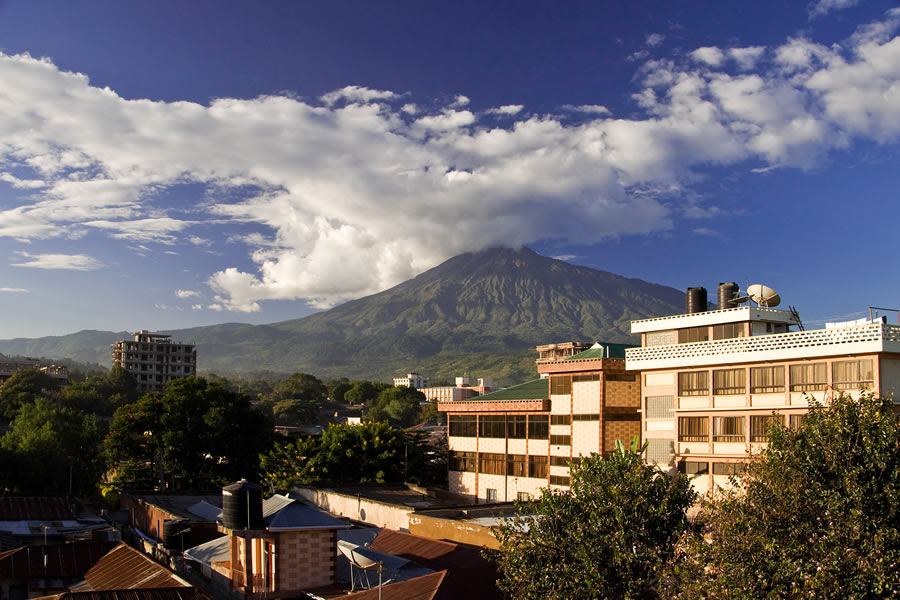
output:
M735 482L737 483L737 482ZM731 491L705 506L667 589L682 598L900 595L900 426L872 395L776 423Z

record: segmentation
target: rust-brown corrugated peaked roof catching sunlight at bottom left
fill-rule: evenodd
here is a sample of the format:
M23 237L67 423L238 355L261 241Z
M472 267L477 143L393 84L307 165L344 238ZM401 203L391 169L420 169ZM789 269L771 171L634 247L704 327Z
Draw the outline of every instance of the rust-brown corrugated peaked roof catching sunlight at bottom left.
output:
M73 591L133 590L137 588L184 587L189 585L175 573L120 542L84 574L84 583Z

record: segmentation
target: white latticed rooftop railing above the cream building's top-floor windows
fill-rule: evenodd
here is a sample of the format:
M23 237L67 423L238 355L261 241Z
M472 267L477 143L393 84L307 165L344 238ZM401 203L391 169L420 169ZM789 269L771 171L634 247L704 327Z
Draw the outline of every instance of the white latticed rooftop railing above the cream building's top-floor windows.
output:
M871 351L900 351L900 326L870 323L835 329L814 329L790 333L773 333L728 340L694 342L670 346L651 346L625 350L629 369L641 368L648 361L693 361L703 364L704 359L716 363L754 360L754 354L771 351L808 349L810 355L840 354L840 346L868 344ZM892 346L886 348L886 345ZM854 350L859 350L858 348Z

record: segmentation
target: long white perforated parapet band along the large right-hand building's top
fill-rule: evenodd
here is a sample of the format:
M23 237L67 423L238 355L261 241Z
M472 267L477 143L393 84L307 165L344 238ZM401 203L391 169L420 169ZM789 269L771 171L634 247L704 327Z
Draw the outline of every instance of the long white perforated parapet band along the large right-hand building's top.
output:
M629 370L647 370L874 352L900 352L900 326L869 323L749 338L629 348L625 351L625 363Z

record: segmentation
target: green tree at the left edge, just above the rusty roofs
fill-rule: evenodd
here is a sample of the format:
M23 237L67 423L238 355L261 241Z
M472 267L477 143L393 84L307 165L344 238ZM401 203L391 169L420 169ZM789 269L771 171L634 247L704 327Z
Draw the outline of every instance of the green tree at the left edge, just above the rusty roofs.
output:
M46 398L23 404L0 438L6 485L31 494L92 494L103 463L103 428L94 415L56 406Z

